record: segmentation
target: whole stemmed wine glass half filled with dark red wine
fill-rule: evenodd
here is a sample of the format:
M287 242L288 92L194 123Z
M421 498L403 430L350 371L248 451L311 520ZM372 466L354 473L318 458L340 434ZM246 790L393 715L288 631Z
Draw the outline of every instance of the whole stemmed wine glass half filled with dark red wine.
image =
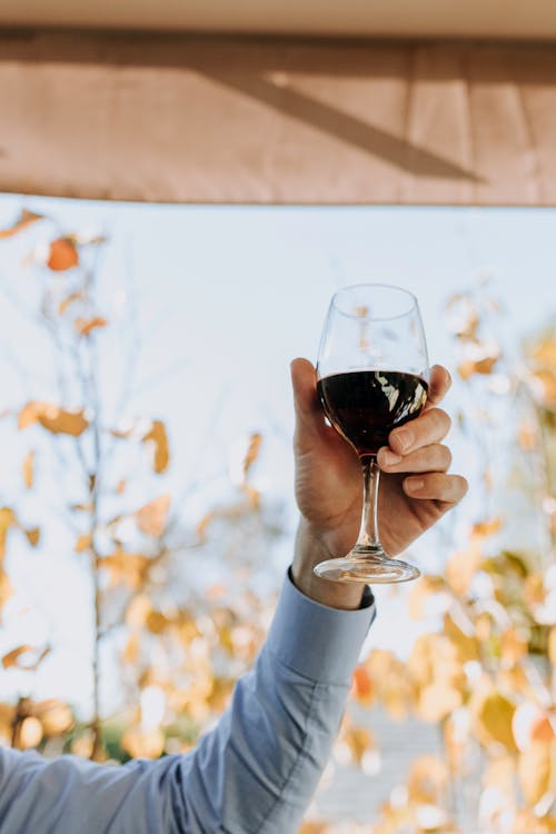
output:
M338 582L416 579L413 565L390 558L378 536L378 449L415 419L428 390L428 356L416 297L400 287L359 284L330 301L320 339L317 390L324 411L363 467L363 514L354 548L315 567Z

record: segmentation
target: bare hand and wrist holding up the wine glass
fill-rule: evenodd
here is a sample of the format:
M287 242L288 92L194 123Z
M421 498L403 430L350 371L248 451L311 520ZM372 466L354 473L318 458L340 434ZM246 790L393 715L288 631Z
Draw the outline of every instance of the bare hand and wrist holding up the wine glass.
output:
M346 587L309 574L322 559L345 556L357 540L361 465L351 446L325 421L311 363L295 359L291 380L296 409L296 499L301 513L294 579L304 593L314 598L317 594L325 604L357 607L363 585ZM394 429L389 446L378 453L377 463L383 471L378 496L380 540L393 556L431 527L467 492L465 478L447 474L451 455L441 445L450 418L437 405L449 386L446 368L435 365L421 414Z

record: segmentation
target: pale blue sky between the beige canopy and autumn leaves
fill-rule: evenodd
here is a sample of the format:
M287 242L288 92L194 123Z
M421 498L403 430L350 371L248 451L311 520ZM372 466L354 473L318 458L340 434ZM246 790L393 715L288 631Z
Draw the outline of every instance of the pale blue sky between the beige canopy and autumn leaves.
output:
M139 335L139 370L126 416L168 421L168 488L207 481L218 489L218 476L238 458L248 433L261 430L256 485L287 504L291 527L289 363L296 356L316 360L326 309L337 288L380 281L415 292L430 359L453 371L457 360L446 299L480 277L493 276L492 290L505 311L500 328L515 348L556 311L556 211L550 209L210 208L3 195L0 228L9 226L22 207L56 217L66 231L92 228L109 236L101 269L107 318L123 320L132 308ZM0 248L0 288L13 288L19 280L18 247L16 242ZM19 284L18 291L24 292L24 286ZM51 377L51 359L26 327L0 296L0 411L39 391L44 398L49 393L50 383L42 380ZM102 349L110 368L105 383L116 395L126 374L121 346L107 336ZM21 373L30 364L36 368L32 378ZM460 407L455 389L446 401L448 410ZM469 459L457 433L451 439L455 470L473 478L476 460ZM10 502L22 453L23 447L6 450L3 479L0 475L3 503ZM195 522L206 500L202 486L193 489L182 508L185 517ZM481 508L473 496L466 507L465 519L478 520ZM33 509L31 504L30 516ZM49 694L62 669L75 664L71 657L88 622L88 588L63 553L66 546L46 543L48 570L38 558L32 570L29 563L12 564L34 598L44 596L48 587L44 617L58 617L54 631L69 646L51 662L44 683ZM419 558L425 569L441 562L435 547L433 539L423 545ZM63 606L60 587L75 589ZM385 606L399 610L399 600L384 594ZM399 645L404 629L395 632L389 623L385 618L374 627L377 645ZM40 623L31 624L30 642L40 628ZM4 647L10 647L6 635L0 652ZM80 702L87 698L86 662L83 657L83 674L73 665L75 674L63 678L61 687Z

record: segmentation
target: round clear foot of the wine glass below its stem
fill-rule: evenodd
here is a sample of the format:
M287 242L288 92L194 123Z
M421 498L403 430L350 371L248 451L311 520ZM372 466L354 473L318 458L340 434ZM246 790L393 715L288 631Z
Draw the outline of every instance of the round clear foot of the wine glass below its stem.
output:
M400 559L390 559L375 547L354 547L347 556L327 559L318 564L314 572L321 579L332 582L379 583L409 582L420 576L420 570Z

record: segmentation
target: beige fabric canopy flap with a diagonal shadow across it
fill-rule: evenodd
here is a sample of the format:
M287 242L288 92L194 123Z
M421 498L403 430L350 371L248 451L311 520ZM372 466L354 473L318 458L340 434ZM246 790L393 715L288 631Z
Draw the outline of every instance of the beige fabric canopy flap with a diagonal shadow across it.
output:
M0 32L0 191L556 205L556 46Z

